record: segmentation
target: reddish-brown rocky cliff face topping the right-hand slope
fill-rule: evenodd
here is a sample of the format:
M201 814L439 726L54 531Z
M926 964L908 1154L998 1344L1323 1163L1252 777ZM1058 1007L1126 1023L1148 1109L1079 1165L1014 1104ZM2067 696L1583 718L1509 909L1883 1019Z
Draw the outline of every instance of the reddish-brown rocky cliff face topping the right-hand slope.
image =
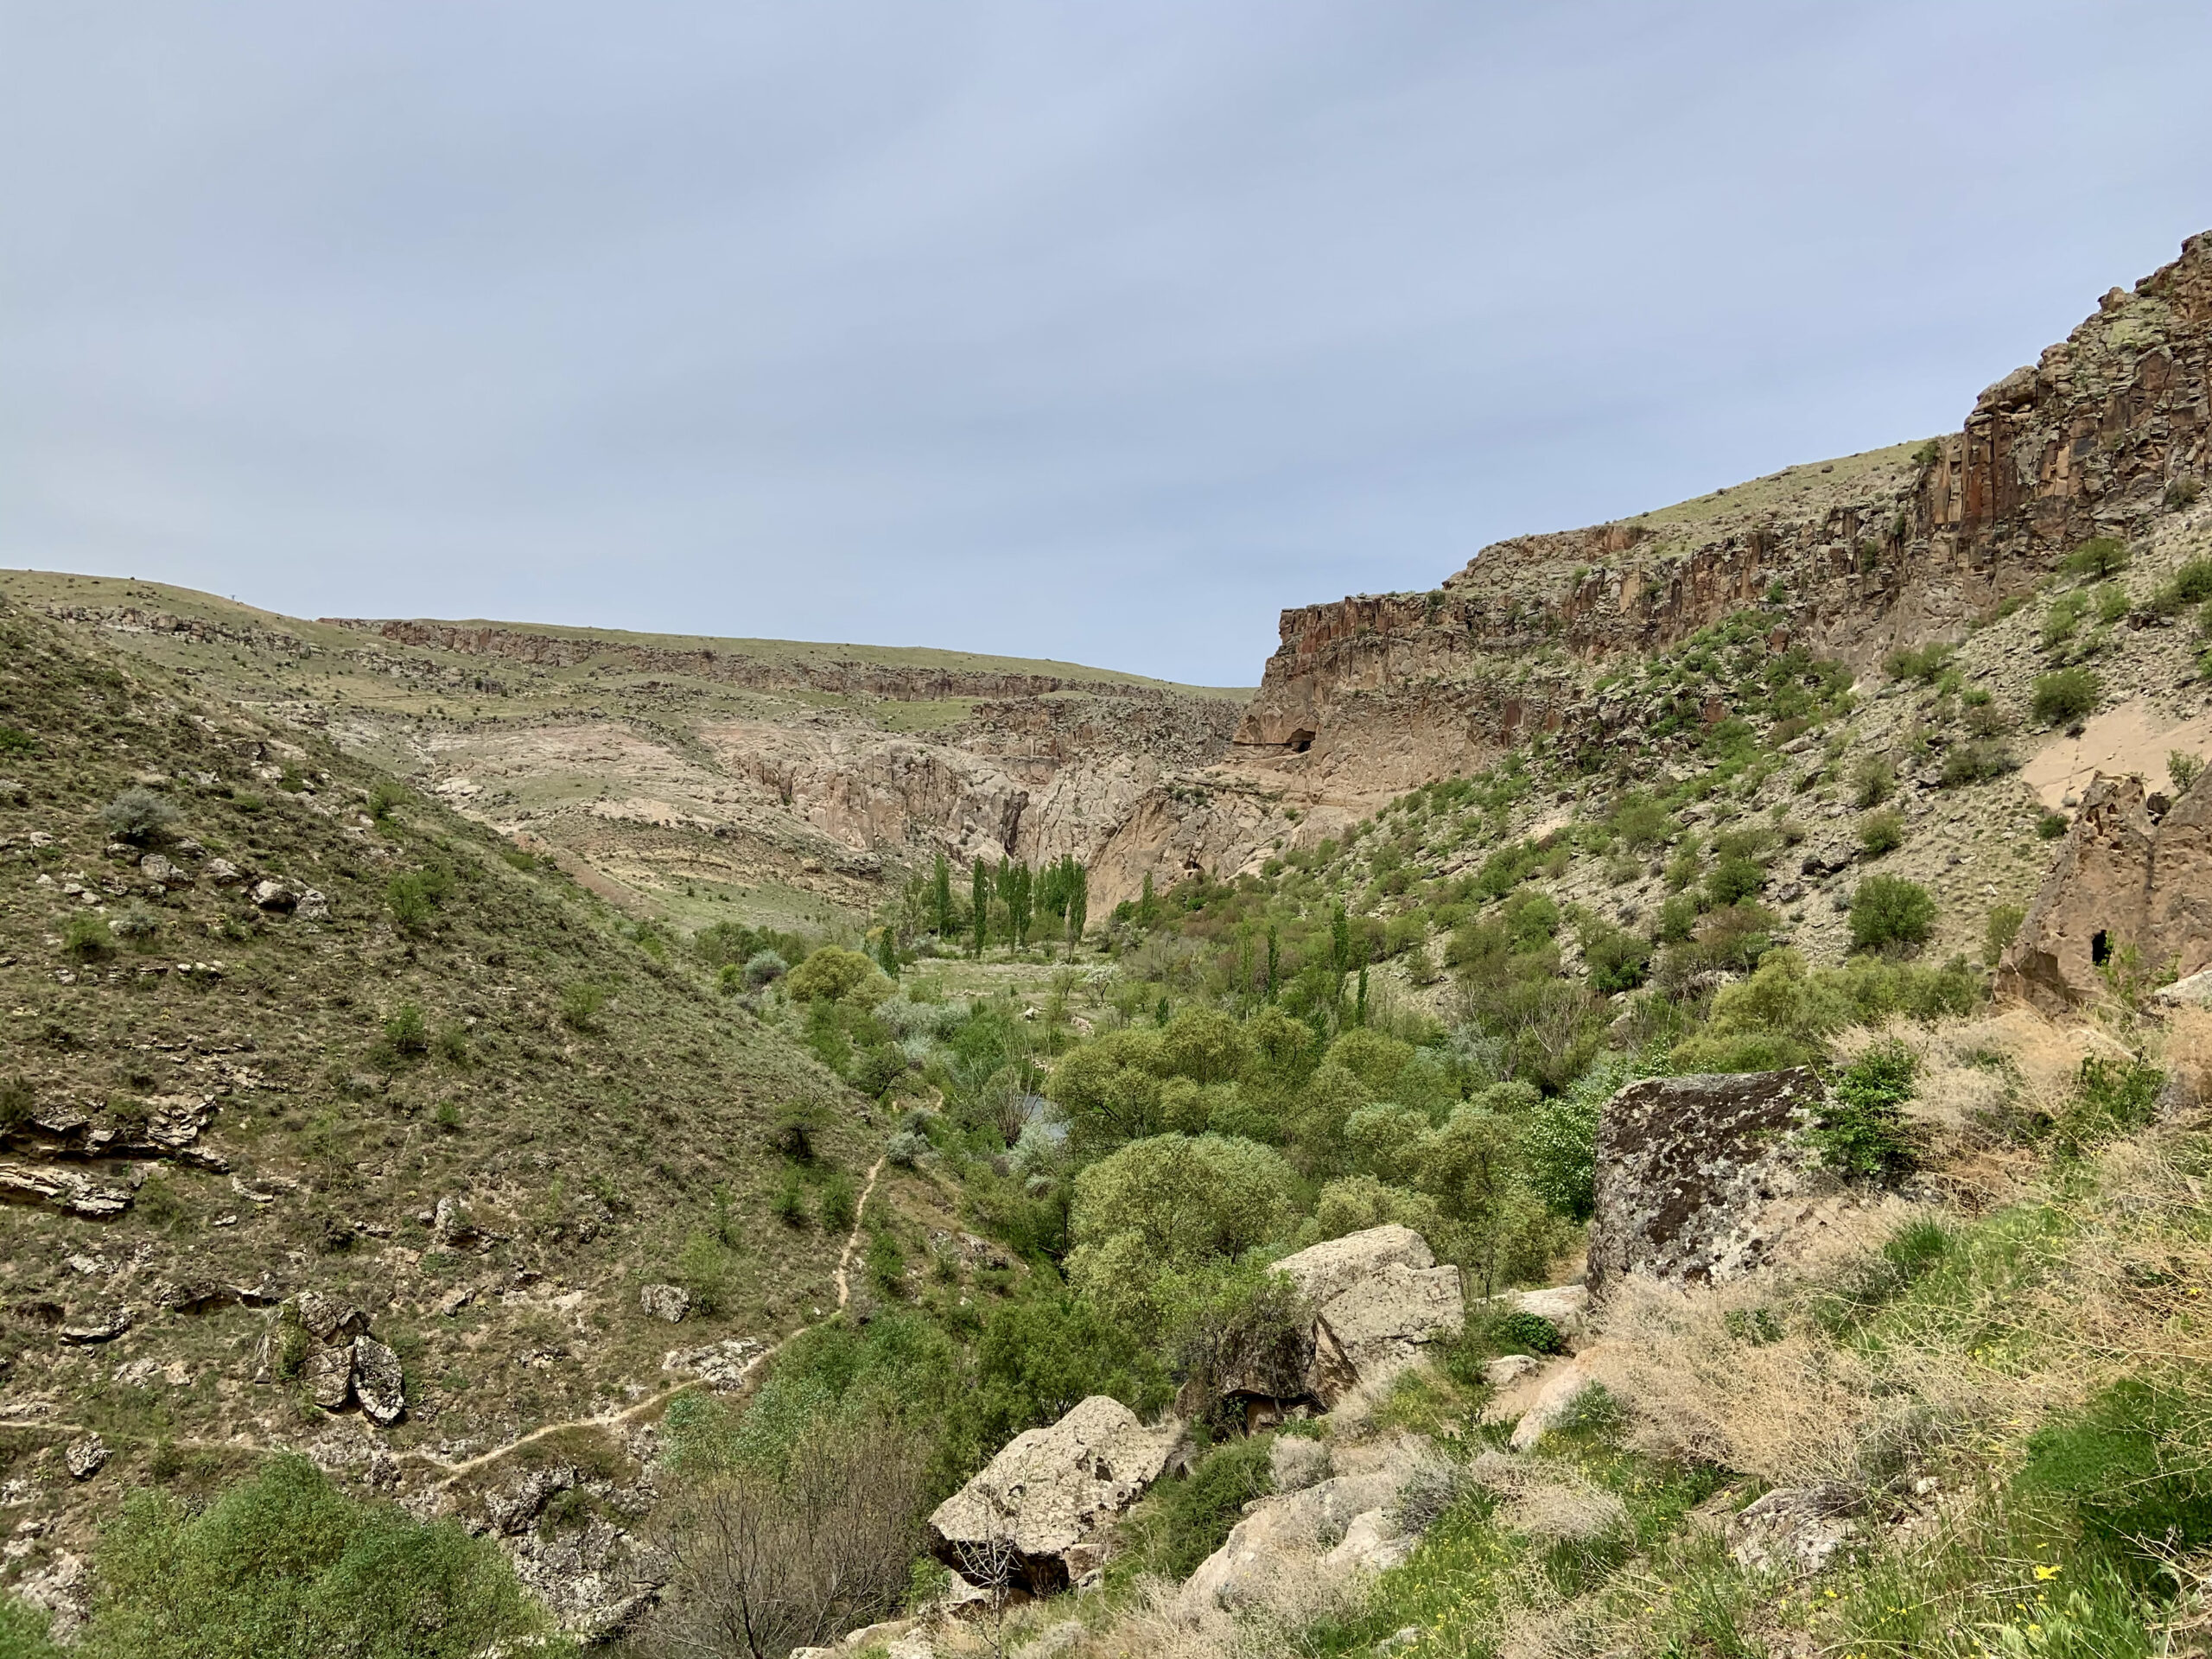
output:
M1955 635L2086 538L2135 535L2201 484L2208 358L2212 232L2106 294L1949 438L1498 542L1431 593L1285 611L1237 745L1310 787L1391 794L1593 721L1606 659L1754 602L1860 668Z

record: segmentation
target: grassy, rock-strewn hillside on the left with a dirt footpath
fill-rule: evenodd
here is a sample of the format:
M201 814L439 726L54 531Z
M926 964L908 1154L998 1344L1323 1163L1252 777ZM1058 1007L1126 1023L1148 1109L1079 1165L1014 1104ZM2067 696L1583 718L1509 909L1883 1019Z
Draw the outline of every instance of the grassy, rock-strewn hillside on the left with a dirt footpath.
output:
M812 1212L876 1108L544 860L4 602L0 772L0 1491L62 1511L42 1551L250 1449L434 1491L836 1303ZM403 1374L319 1369L305 1292Z

